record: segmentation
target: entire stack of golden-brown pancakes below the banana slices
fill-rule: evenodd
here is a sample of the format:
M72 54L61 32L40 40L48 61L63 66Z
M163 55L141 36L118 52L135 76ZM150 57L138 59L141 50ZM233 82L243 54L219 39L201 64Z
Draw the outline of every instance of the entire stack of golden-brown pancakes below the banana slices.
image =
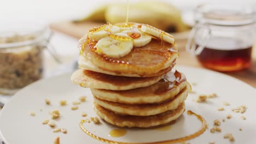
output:
M175 44L152 39L121 58L98 55L91 45L86 37L80 40L79 70L71 79L91 89L98 116L118 127L149 128L182 115L190 85L173 68Z

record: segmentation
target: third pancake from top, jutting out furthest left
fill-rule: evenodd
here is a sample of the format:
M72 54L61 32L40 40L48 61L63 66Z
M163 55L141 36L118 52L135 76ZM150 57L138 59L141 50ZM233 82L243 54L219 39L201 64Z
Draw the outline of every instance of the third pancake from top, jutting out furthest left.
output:
M71 80L73 83L82 87L123 91L153 85L161 80L162 77L164 77L164 74L155 77L113 76L79 69L72 74Z

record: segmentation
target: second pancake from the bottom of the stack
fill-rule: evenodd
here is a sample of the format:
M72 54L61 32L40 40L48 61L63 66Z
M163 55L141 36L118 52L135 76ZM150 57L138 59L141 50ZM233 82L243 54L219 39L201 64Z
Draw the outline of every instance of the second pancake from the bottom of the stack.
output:
M159 104L121 104L112 101L101 100L94 97L94 103L113 112L132 116L151 116L168 110L174 110L187 98L190 89L185 87L173 99L166 100Z

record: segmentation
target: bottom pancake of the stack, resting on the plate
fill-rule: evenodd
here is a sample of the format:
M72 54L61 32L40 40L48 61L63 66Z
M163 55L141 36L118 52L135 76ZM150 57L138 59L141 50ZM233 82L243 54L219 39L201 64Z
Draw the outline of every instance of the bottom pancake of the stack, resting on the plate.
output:
M94 110L97 115L106 122L117 125L118 127L150 128L174 123L185 111L185 104L182 103L175 110L166 111L153 116L119 115L115 112L104 109L104 107L98 104L94 104Z

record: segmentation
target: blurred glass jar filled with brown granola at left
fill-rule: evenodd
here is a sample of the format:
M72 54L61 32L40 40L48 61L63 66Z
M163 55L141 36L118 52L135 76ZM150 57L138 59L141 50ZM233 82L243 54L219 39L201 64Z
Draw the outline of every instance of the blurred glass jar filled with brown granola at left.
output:
M0 32L0 94L14 94L43 76L50 31Z

